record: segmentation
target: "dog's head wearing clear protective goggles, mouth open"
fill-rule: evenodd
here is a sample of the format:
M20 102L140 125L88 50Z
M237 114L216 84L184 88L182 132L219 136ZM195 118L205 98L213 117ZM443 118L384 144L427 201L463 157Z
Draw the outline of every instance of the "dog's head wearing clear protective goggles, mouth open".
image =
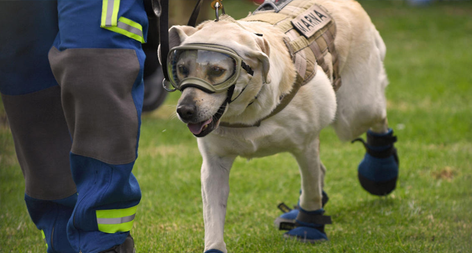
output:
M177 114L196 137L212 132L220 119L243 114L269 82L267 40L233 19L173 26L169 46L180 46L167 63L182 91Z

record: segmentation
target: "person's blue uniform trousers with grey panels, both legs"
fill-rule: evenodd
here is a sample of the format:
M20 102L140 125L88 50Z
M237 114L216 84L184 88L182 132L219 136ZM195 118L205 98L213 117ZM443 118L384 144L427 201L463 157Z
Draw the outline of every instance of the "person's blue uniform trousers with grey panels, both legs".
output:
M123 243L141 198L142 0L1 1L0 19L1 98L47 252Z

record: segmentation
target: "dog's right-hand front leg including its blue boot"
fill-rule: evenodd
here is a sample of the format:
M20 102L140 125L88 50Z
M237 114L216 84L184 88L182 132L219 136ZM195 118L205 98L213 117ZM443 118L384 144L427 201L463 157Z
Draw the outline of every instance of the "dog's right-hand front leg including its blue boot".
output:
M296 238L305 243L326 241L324 225L331 224L329 216L323 216L323 180L326 170L319 159L319 138L302 150L292 152L301 173L301 195L295 228L285 233L286 238Z

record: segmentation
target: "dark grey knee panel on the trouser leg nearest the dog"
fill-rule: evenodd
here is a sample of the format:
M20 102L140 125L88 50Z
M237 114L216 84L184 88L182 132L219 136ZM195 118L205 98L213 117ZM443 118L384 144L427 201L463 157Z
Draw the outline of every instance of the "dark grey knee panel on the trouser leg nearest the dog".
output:
M108 164L136 159L139 119L132 91L142 70L133 49L49 51L72 134L71 152Z

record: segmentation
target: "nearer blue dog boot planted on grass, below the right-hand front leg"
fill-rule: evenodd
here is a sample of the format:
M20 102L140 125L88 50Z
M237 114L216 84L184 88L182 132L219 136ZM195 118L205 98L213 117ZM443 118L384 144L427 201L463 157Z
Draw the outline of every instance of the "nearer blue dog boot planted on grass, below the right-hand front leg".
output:
M284 234L285 238L295 238L302 243L328 241L324 226L332 224L330 216L323 216L324 210L305 211L298 207L295 228Z

